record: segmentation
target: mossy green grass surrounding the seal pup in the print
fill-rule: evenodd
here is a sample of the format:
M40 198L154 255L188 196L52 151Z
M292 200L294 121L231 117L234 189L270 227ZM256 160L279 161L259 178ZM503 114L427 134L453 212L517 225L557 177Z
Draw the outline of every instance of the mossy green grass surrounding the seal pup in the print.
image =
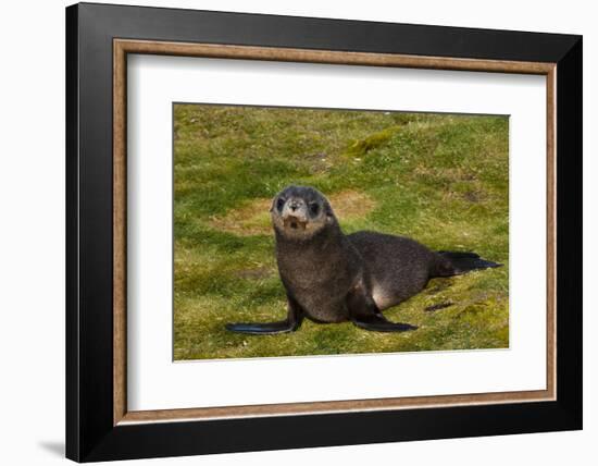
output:
M198 105L176 105L174 118L175 359L508 347L507 118ZM402 234L504 267L432 280L385 311L413 332L311 321L228 332L286 315L267 203L291 183L336 198L347 233Z

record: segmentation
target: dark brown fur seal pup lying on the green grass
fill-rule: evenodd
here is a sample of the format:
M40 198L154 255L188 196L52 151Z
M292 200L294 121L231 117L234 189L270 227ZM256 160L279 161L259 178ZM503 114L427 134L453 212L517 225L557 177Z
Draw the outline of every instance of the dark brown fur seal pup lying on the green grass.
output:
M402 236L369 231L345 235L331 204L313 187L286 187L270 211L288 314L278 322L226 324L233 332L292 332L303 318L351 321L378 332L414 330L388 321L382 311L421 292L432 278L500 266L474 253L433 252Z

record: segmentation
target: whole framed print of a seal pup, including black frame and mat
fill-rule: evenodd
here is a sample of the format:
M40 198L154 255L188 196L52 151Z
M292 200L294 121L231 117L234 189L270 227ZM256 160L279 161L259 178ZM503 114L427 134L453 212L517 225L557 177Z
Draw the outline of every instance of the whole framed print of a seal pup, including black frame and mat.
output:
M66 455L582 428L582 38L66 9Z

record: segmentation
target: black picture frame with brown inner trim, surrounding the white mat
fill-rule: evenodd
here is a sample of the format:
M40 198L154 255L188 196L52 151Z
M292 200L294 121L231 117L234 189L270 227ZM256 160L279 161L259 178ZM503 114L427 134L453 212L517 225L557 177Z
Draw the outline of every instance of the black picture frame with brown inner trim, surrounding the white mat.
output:
M533 176L547 180L546 390L128 410L128 54L545 75L547 173ZM582 102L580 36L68 7L66 456L92 462L581 429Z

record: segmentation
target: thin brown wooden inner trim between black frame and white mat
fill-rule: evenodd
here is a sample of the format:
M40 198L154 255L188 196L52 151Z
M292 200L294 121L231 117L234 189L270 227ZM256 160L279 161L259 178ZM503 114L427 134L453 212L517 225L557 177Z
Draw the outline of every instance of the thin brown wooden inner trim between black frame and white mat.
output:
M180 44L114 39L114 425L175 419L267 416L298 413L331 413L347 410L398 409L406 407L451 406L555 400L555 63L516 62L506 60L466 60L440 57L409 57L384 53L299 50L288 48L226 46L213 44ZM310 63L335 63L372 66L399 66L436 70L491 71L545 75L547 79L547 389L504 393L481 393L445 396L415 396L378 400L352 400L272 404L235 407L164 409L127 412L126 409L126 56L151 53L232 60L275 60Z

